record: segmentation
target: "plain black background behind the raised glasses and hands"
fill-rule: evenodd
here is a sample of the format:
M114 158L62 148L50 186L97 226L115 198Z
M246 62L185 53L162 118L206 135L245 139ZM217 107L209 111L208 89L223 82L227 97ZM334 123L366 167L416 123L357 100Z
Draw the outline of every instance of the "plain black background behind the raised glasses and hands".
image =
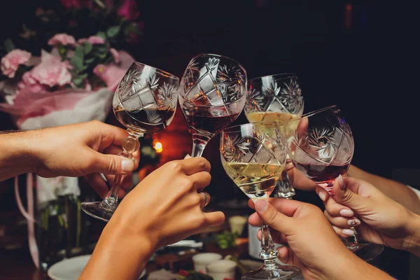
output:
M23 5L2 1L1 37L16 32L37 3ZM236 59L248 78L295 72L304 111L337 104L353 131L353 165L391 178L392 169L420 165L415 10L397 1L141 1L144 36L130 53L176 76L202 52ZM0 129L10 129L4 114ZM214 139L204 152L217 174L209 189L231 198L217 148ZM320 205L314 193L298 192L295 199ZM374 264L398 279L408 277L407 253L386 249Z

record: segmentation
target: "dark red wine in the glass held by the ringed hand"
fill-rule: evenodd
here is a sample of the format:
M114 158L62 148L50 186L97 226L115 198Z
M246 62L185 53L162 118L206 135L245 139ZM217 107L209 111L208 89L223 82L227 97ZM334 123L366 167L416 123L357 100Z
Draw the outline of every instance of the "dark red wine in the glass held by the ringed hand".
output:
M195 106L183 108L190 134L212 138L237 119L239 113L228 114L225 107Z

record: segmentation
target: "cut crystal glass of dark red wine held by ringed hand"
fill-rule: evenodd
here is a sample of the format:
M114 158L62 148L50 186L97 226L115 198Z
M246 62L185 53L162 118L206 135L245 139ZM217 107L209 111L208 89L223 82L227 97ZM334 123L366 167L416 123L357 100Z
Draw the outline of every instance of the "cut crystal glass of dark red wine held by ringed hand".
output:
M246 99L244 66L222 55L193 57L181 78L179 105L193 135L192 157L235 121Z

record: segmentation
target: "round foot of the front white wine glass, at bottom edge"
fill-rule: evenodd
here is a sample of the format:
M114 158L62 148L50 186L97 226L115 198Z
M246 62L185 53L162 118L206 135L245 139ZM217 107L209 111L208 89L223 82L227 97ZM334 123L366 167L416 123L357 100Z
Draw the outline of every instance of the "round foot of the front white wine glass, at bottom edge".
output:
M289 265L275 264L274 267L262 267L246 272L242 275L241 279L247 280L274 280L274 279L292 279L293 277L301 274L299 268Z

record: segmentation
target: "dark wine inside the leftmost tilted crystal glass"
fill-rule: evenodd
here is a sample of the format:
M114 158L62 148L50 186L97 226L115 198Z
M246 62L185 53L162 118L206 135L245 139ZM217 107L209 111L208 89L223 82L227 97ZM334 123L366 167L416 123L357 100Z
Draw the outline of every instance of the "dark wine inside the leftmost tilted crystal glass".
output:
M120 123L140 134L153 134L164 130L175 116L175 110L173 108L145 108L140 111L130 111L130 113L127 113L127 111L117 106L114 109L114 113Z

